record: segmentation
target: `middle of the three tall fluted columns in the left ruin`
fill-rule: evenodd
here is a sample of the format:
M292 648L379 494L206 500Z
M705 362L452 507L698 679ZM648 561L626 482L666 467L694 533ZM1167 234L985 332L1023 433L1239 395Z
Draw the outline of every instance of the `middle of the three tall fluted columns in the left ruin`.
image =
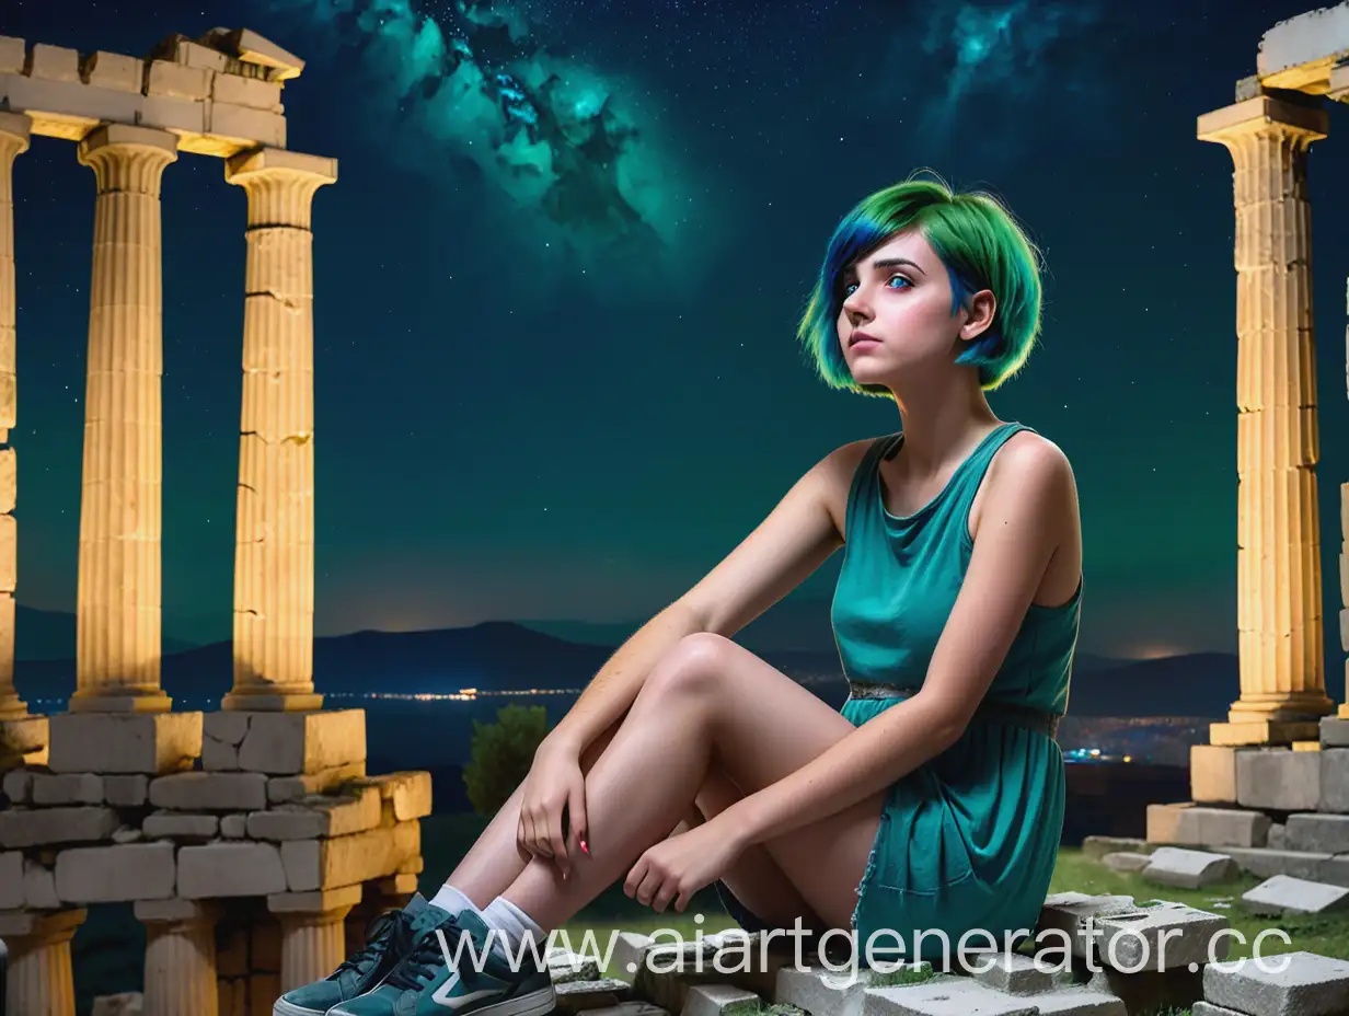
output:
M159 687L163 374L159 181L167 131L105 124L80 142L94 171L80 499L74 711L165 711Z

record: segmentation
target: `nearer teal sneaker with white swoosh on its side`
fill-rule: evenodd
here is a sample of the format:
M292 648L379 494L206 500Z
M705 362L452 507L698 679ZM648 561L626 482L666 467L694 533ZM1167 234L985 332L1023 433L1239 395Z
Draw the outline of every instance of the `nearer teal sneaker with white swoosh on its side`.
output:
M329 1009L328 1016L548 1016L557 1005L548 967L527 947L521 962L513 963L500 932L491 935L488 950L487 926L472 911L433 927L424 920L425 913L414 922L411 950L384 982ZM459 962L451 965L456 951Z

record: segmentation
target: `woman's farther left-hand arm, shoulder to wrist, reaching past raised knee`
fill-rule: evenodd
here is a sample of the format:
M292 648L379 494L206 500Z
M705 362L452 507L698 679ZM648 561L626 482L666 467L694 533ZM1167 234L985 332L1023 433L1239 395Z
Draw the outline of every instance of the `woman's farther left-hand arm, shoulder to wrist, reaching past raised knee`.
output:
M685 636L734 636L804 582L842 545L853 474L867 441L816 463L706 577L631 636L548 735L583 752L637 699L646 676Z

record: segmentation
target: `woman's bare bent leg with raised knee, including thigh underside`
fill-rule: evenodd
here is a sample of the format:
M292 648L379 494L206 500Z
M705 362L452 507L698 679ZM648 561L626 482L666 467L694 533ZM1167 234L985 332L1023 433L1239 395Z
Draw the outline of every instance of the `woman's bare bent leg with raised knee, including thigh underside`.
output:
M648 677L587 776L591 855L579 855L565 881L552 864L530 859L502 895L542 928L556 928L689 814L714 765L753 793L851 730L844 716L735 642L706 633L684 638ZM851 920L882 800L876 793L764 845L832 927Z

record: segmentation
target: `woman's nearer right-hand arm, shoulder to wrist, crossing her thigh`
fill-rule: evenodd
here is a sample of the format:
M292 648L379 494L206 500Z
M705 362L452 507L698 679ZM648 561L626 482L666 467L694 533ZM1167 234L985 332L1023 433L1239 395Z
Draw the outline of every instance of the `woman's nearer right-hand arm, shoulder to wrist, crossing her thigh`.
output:
M1035 441L1006 451L1004 468L990 471L970 567L921 691L720 812L714 822L727 835L749 846L835 815L940 754L965 731L1050 559L1075 532L1072 471L1058 447Z

